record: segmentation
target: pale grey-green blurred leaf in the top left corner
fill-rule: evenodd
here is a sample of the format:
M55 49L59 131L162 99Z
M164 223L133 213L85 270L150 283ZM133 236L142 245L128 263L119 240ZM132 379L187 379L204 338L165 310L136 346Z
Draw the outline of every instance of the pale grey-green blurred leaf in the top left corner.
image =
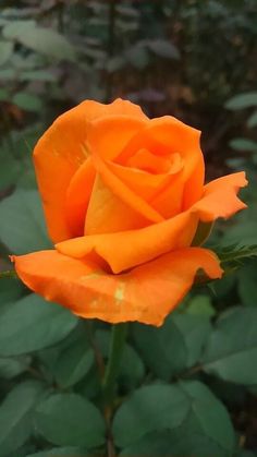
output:
M51 28L39 27L34 21L13 21L2 31L3 37L21 43L34 51L57 60L76 60L69 40Z

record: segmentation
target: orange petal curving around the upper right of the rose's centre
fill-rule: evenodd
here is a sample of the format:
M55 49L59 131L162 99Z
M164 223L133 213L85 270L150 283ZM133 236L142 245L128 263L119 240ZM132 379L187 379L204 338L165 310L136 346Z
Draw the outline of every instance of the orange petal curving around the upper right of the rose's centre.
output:
M184 164L183 172L173 187L166 188L163 195L160 193L152 202L152 206L159 213L164 217L171 217L175 212L173 208L169 208L169 201L180 202L181 208L185 211L203 195L205 163L199 139L198 130L175 118L164 116L152 119L132 137L117 161L119 164L128 163L131 157L143 147L157 155L180 154Z

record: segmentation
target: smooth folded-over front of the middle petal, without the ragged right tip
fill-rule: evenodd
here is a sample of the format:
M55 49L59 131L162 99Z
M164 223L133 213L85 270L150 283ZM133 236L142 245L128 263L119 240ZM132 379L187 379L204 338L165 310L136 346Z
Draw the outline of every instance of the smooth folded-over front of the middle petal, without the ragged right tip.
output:
M120 273L148 262L174 249L188 246L195 236L198 218L184 213L160 224L117 233L90 234L58 243L62 254L83 258L96 252Z

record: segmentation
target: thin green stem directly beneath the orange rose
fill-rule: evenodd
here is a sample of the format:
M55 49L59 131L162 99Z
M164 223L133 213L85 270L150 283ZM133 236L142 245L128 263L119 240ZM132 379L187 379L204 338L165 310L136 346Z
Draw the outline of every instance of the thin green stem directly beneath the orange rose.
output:
M102 380L103 399L106 405L110 405L113 399L115 380L120 370L126 332L127 324L115 324L112 326L109 359Z

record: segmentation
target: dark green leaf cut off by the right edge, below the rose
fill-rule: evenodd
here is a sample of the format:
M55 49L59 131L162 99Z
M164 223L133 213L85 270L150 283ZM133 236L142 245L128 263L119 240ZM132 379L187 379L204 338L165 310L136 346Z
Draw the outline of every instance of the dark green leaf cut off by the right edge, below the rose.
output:
M257 384L257 308L228 311L211 333L203 368L232 383Z

